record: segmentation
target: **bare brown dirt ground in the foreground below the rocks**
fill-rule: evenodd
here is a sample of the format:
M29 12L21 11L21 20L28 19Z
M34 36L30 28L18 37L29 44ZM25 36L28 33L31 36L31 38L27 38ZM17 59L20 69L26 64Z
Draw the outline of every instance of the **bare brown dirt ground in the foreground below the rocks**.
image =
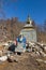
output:
M46 70L46 62L36 60L46 60L46 57L32 57L31 53L25 53L21 56L17 57L17 62L0 62L0 70Z

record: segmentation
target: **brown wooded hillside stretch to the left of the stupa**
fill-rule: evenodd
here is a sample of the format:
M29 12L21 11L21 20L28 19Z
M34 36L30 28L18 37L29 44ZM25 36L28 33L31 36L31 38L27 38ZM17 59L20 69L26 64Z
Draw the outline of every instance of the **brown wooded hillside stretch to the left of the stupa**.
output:
M0 20L0 40L13 40L21 30L24 24L18 22L17 17L12 19Z

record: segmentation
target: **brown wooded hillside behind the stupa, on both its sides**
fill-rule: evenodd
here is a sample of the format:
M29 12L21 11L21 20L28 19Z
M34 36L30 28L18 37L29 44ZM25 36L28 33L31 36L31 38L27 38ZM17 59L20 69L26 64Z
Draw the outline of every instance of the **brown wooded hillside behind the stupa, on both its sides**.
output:
M22 29L26 23L19 22L17 17L9 18L6 20L0 19L0 41L14 40ZM36 26L37 29L37 41L46 42L46 30L45 32L41 28L42 26L37 26L34 22L33 26Z

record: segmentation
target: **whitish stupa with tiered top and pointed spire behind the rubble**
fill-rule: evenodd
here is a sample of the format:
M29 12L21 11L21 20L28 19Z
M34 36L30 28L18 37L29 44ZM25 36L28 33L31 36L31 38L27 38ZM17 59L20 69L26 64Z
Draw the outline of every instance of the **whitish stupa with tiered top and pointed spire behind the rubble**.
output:
M20 34L24 34L27 39L27 41L29 42L36 42L37 38L36 38L36 29L33 26L32 20L30 19L30 17L28 16L27 19L27 24L24 26L24 28L20 31Z

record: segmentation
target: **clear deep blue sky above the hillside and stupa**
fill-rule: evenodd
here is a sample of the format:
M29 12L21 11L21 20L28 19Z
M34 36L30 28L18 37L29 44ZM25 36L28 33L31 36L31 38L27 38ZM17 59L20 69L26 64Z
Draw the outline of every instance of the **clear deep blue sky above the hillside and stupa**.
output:
M20 22L27 19L30 14L31 19L42 24L46 19L46 0L5 0L4 12L6 17L18 17Z

